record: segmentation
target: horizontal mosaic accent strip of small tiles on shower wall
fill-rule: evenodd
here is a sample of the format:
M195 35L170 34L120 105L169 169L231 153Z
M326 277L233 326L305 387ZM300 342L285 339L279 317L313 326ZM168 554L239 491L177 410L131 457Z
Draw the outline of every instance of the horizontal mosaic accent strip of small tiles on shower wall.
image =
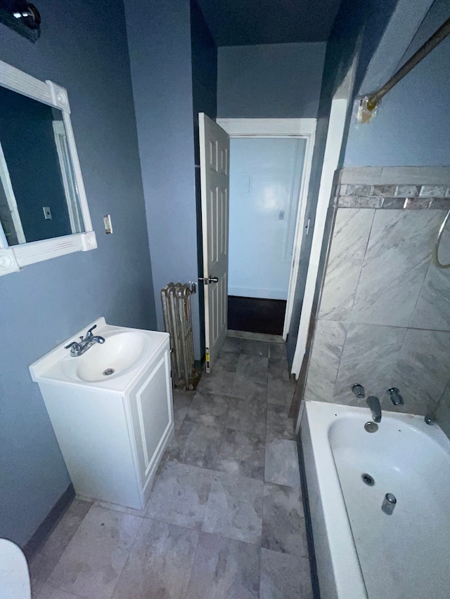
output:
M336 186L334 206L338 208L450 210L450 185L341 183Z

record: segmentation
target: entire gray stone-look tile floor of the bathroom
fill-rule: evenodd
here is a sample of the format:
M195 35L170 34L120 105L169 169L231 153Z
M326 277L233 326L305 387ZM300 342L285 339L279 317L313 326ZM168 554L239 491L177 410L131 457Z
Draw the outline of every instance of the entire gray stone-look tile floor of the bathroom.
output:
M311 599L281 343L226 338L143 511L77 498L30 564L34 599Z

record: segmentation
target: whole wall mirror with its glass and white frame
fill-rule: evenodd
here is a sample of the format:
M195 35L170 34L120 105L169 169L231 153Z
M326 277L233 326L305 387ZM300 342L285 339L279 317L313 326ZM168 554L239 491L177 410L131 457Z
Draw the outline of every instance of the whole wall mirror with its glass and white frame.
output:
M0 275L96 246L67 91L0 61Z

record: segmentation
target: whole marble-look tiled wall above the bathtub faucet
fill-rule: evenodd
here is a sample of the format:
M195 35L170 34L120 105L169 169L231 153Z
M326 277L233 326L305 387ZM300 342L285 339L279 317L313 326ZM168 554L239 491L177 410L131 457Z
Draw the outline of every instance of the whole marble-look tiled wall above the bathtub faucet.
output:
M446 390L450 432L450 269L432 262L450 167L342 169L338 181L304 397L355 405L361 383L383 409L425 414ZM450 261L450 227L439 258Z

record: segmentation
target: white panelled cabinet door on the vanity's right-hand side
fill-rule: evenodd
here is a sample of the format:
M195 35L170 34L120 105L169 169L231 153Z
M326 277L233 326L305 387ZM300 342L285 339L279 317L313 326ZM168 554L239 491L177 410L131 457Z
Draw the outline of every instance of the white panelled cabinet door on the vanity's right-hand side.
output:
M129 401L143 489L158 465L174 426L168 349L156 357L152 367L131 391Z

